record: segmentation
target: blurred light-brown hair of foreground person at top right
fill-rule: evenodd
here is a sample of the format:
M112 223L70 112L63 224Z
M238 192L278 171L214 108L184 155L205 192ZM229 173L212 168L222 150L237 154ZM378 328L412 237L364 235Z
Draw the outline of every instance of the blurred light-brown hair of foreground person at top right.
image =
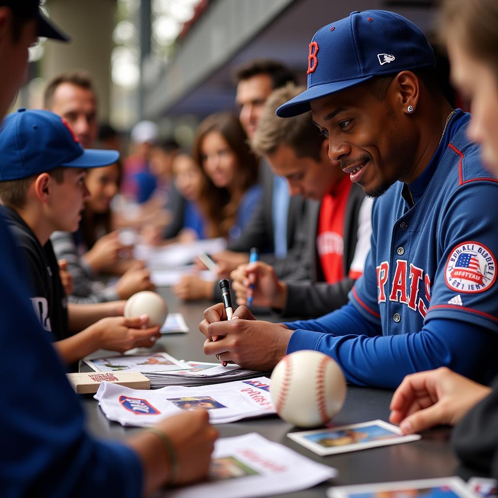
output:
M488 62L498 75L498 2L496 0L443 0L440 13L440 40L458 33L462 46L481 61Z

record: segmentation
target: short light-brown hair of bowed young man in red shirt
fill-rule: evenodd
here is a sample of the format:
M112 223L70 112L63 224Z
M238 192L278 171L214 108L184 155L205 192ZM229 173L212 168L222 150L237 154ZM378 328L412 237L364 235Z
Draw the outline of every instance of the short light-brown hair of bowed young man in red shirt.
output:
M278 107L304 90L305 87L288 83L268 97L251 140L255 154L272 154L283 143L292 147L297 157L311 157L320 161L320 149L325 137L313 124L311 111L293 118L279 118L275 114Z

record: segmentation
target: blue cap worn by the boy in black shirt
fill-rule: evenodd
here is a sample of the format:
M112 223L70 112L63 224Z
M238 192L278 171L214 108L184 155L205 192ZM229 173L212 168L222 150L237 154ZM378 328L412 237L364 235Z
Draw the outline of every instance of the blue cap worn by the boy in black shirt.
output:
M18 180L64 166L115 163L117 150L84 149L66 121L50 111L19 109L0 128L0 181Z

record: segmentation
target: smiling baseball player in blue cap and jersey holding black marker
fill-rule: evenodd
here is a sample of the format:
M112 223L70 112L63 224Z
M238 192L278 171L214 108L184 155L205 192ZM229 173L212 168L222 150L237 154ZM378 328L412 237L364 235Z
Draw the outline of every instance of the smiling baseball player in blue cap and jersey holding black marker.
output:
M434 66L423 33L392 12L352 12L315 34L308 88L277 115L311 108L331 159L375 198L364 275L345 307L317 320L251 322L241 307L245 320L214 323L224 319L214 306L200 326L206 354L266 369L318 350L349 382L389 388L440 366L480 381L497 373L498 183Z

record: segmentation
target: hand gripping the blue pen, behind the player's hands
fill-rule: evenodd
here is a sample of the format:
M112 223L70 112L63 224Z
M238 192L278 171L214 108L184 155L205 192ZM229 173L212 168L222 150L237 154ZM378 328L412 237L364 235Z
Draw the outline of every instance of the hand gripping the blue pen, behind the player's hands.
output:
M252 304L282 309L287 299L287 286L280 282L272 266L262 261L241 264L230 274L232 289L239 305L246 305L252 295ZM254 291L249 285L254 284Z

